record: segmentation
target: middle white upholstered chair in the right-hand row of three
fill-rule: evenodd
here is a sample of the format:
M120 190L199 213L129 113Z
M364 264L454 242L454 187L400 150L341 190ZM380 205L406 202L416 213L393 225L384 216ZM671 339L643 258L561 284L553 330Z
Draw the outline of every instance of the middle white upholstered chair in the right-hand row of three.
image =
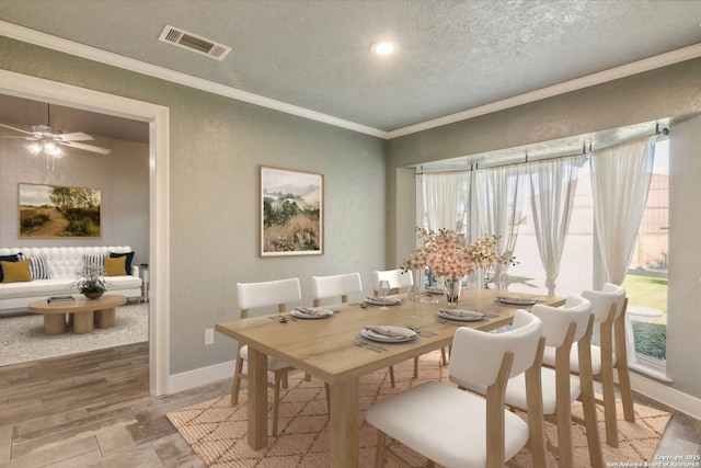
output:
M558 445L549 444L548 448L559 457L561 467L572 468L574 466L572 422L578 422L586 427L590 465L602 468L604 456L594 401L590 353L584 351L577 356L578 367L582 369L578 376L570 373L570 353L573 343L578 343L581 350L586 350L589 345L594 327L591 303L581 296L568 296L562 307L537 304L531 313L542 321L545 349L555 352L555 367L544 367L541 370L544 419L558 427ZM481 395L486 391L483 386L468 385L466 388ZM504 396L506 404L528 411L526 396L526 376L521 374L510 378ZM577 399L582 401L584 419L572 415L572 403Z

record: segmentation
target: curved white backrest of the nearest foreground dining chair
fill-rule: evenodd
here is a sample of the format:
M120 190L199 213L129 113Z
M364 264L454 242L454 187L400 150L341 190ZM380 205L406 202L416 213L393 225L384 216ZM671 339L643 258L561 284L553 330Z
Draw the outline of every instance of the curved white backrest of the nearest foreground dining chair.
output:
M541 333L540 319L520 309L514 315L512 330L504 333L460 327L452 340L450 380L467 388L489 387L498 377L509 352L514 355L509 377L526 372L536 359Z

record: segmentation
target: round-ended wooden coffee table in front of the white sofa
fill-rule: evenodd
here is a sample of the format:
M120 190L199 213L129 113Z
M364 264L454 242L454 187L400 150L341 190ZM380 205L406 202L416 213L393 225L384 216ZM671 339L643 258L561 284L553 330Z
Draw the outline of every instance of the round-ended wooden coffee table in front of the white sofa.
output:
M70 303L30 303L27 309L44 315L44 333L66 333L66 316L73 326L73 333L90 333L94 327L114 327L115 307L126 304L126 296L105 295L97 299L76 299Z

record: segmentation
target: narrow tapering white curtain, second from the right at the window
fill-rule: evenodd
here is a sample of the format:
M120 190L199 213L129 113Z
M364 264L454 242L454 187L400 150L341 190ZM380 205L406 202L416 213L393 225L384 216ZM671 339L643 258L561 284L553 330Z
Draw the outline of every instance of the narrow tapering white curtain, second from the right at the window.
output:
M528 165L533 227L549 295L555 294L560 273L577 183L577 159L558 158Z

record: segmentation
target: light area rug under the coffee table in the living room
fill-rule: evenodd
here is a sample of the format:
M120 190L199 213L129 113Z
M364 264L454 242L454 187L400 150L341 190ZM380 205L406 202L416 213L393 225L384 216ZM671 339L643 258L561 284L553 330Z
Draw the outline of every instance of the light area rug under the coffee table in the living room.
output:
M0 366L46 359L68 354L104 350L149 340L149 305L117 307L115 326L95 328L91 333L67 333L47 336L44 316L0 318Z

